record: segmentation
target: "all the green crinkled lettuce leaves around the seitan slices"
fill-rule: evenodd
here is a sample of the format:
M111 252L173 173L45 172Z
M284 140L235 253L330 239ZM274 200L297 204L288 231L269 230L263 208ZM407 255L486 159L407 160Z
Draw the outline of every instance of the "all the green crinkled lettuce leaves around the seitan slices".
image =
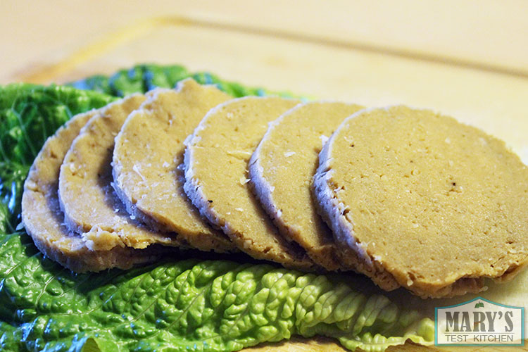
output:
M140 65L75 87L128 94L188 76L179 66ZM207 73L193 77L234 96L266 93ZM431 320L360 294L344 276L226 260L76 275L44 258L25 232L13 230L27 170L59 125L113 99L73 87L0 88L0 351L236 351L293 334L334 337L365 351L408 338L431 343Z

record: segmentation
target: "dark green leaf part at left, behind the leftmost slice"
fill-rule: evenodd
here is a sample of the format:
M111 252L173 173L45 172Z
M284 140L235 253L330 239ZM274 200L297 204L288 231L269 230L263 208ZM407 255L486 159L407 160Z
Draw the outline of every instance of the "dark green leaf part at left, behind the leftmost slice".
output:
M46 138L73 115L114 99L55 85L0 87L0 230L13 232L20 222L23 182Z

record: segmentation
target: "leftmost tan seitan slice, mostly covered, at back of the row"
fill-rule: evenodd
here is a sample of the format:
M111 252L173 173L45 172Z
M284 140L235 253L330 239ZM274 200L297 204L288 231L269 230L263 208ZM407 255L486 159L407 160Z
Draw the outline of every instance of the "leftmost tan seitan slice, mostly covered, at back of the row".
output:
M27 175L22 196L23 224L37 248L75 272L128 269L158 257L154 247L144 250L114 247L110 251L92 251L78 234L63 224L64 214L57 194L61 164L82 126L97 113L99 111L75 115L47 139Z

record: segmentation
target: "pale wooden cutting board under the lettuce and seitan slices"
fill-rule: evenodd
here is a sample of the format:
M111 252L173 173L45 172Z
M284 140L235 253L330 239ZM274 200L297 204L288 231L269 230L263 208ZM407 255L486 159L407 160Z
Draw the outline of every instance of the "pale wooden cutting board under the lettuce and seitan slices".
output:
M106 34L58 61L25 70L14 80L62 83L137 63L180 63L189 70L207 70L243 84L365 106L405 103L433 108L504 139L528 163L526 77L277 30L249 30L193 18L148 18ZM528 275L522 280L508 289L526 293L528 303ZM528 351L526 347L425 348L412 344L389 350L514 349ZM344 350L327 339L294 339L247 351Z

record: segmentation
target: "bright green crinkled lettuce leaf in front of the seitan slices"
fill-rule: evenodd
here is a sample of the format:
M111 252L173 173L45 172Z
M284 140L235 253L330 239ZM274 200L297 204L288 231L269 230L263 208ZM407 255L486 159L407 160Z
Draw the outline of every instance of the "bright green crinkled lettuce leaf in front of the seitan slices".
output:
M434 332L431 320L344 278L272 265L182 260L75 275L25 234L4 236L0 258L0 350L237 351L321 334L383 351L408 338L429 344Z

